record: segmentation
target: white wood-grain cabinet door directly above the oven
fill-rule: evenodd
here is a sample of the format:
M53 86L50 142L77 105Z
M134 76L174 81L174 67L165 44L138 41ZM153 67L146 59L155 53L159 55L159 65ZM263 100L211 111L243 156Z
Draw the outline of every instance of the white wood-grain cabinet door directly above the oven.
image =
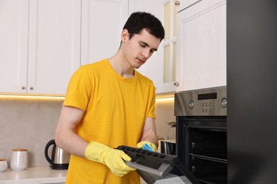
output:
M177 14L177 27L176 91L226 86L226 0L185 8Z

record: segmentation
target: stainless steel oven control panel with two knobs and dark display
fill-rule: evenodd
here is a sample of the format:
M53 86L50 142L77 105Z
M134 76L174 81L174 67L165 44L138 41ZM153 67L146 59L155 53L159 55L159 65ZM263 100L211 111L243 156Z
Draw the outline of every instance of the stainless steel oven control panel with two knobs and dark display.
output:
M174 114L227 115L226 86L175 93Z

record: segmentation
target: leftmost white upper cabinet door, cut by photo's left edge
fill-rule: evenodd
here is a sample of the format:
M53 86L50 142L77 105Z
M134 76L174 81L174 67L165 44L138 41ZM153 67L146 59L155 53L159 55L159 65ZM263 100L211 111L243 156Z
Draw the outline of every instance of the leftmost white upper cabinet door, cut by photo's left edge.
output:
M0 1L0 93L26 93L28 0Z

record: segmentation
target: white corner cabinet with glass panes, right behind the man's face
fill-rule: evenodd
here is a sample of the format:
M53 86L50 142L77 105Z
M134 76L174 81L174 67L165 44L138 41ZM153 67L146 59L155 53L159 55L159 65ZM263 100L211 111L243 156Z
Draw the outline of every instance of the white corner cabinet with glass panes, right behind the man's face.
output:
M151 79L156 87L156 93L172 93L175 91L175 64L174 59L174 45L175 35L174 29L174 10L175 5L173 0L129 0L130 13L134 11L146 11L152 13L163 23L165 27L165 39L162 40L158 47L158 51L143 64L138 71ZM168 13L165 13L165 10Z

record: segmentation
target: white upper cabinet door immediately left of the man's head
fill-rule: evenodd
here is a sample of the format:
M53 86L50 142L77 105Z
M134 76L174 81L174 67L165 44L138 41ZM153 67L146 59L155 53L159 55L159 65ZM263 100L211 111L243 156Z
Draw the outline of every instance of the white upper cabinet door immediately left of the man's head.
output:
M81 64L112 57L128 18L128 0L82 0Z

